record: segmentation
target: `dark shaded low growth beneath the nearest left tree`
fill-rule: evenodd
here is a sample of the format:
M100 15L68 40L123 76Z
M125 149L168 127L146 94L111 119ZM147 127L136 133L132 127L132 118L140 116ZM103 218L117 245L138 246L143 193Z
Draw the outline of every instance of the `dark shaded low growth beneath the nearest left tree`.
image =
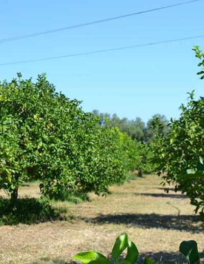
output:
M46 199L23 198L13 204L0 197L0 225L37 224L60 219Z

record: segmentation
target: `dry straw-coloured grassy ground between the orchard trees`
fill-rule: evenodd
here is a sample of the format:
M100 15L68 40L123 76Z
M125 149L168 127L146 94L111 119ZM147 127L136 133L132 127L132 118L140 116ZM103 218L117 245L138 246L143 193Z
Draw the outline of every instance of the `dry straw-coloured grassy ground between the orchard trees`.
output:
M181 193L165 193L160 183L156 175L145 175L111 187L107 197L91 194L90 202L56 203L67 209L69 221L1 226L0 263L71 263L71 256L92 249L108 255L123 232L136 243L140 259L183 263L179 245L192 239L203 256L204 226L194 207ZM20 195L40 196L37 184L22 187Z

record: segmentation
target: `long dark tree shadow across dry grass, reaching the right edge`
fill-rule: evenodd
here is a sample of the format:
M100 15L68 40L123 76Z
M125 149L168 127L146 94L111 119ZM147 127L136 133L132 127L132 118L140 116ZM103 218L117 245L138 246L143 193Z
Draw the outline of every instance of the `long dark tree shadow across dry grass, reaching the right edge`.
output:
M204 224L199 221L197 215L121 213L98 215L95 218L85 218L85 221L94 224L124 224L144 228L184 230L193 233L204 231Z

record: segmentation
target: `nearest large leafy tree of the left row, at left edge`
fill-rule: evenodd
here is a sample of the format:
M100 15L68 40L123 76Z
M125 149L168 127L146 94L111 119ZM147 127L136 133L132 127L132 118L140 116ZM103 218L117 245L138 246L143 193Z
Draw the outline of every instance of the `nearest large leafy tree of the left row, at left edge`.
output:
M72 184L67 165L75 155L72 130L83 116L79 102L55 93L45 75L33 83L20 74L0 84L0 101L0 187L11 193L11 200L17 200L18 187L31 178L46 181L43 192L45 186Z

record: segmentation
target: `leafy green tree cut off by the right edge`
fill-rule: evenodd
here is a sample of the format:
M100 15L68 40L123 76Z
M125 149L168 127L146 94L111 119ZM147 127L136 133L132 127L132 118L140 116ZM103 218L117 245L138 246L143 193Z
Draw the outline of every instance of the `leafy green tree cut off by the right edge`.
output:
M193 49L202 62L198 65L203 66L203 53L198 47ZM202 78L202 70L198 73ZM163 179L167 183L174 183L175 190L185 192L191 199L191 203L196 206L196 212L203 215L204 210L204 188L203 177L181 177L184 171L195 168L198 156L203 155L204 151L204 100L200 97L194 98L194 92L189 93L187 105L182 104L181 116L177 120L171 119L169 124L168 137L157 134L152 143L154 158L152 162L159 174L165 172ZM160 126L159 120L155 119L156 130Z

